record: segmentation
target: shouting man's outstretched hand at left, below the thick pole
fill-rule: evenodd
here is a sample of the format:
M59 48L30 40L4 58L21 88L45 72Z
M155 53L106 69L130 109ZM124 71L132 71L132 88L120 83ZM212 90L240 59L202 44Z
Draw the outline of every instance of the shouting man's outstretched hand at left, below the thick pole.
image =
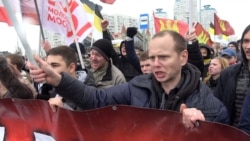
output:
M39 68L28 62L30 74L35 82L51 84L52 86L58 86L61 81L61 75L56 73L51 66L39 56L34 56Z

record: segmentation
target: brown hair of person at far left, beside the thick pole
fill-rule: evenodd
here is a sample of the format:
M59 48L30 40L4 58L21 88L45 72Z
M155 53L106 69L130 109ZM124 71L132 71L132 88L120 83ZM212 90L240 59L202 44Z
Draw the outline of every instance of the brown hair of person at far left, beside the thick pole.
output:
M7 55L5 58L9 58L10 59L10 63L12 65L16 65L17 69L19 72L22 71L25 60L23 59L23 57L21 55L18 54L9 54Z

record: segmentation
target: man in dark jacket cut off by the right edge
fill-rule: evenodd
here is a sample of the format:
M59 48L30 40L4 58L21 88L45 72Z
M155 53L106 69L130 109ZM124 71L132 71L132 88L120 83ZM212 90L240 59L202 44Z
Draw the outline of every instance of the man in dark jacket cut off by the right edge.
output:
M230 125L234 127L240 126L244 130L249 129L249 127L244 128L242 125L250 125L250 123L247 124L245 122L243 124L241 120L249 118L246 117L247 114L242 114L242 107L247 107L244 99L247 95L247 90L250 88L250 25L243 31L240 44L242 62L231 65L221 72L214 94L227 107ZM247 110L249 111L249 109ZM246 132L249 133L249 130Z

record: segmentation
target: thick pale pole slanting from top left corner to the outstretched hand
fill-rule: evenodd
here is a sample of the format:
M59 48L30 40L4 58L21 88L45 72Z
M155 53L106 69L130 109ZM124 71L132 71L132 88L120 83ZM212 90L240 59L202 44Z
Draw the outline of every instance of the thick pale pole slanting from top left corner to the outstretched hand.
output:
M25 31L23 30L24 28L22 27L21 24L19 24L16 16L14 15L13 13L13 10L11 8L11 6L9 5L9 2L8 0L2 0L3 2L3 5L5 6L6 10L7 10L7 13L8 13L8 16L10 17L11 19L11 22L13 23L13 26L16 30L16 33L19 37L19 39L21 40L22 44L23 44L23 47L25 49L25 54L27 55L29 61L35 65L36 67L38 67L38 64L36 63L33 55L32 55L32 51L31 51L31 48L30 48L30 45L27 41L27 39L25 38Z

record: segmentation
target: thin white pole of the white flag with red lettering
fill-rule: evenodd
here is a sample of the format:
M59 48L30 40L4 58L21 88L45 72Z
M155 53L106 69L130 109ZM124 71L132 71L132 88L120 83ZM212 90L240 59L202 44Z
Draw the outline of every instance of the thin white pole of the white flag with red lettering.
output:
M73 37L74 37L74 41L76 43L76 49L77 49L78 56L79 56L79 59L80 59L81 67L82 67L82 69L84 69L85 66L84 66L84 62L83 62L83 59L82 59L82 53L81 53L81 50L80 50L80 47L79 47L79 43L78 43L78 40L77 40L76 30L75 30L75 27L74 27L72 15L70 13L69 4L68 4L67 0L65 0L65 2L66 2L67 13L68 13L68 17L69 17L70 27L71 27L72 32L73 32Z

